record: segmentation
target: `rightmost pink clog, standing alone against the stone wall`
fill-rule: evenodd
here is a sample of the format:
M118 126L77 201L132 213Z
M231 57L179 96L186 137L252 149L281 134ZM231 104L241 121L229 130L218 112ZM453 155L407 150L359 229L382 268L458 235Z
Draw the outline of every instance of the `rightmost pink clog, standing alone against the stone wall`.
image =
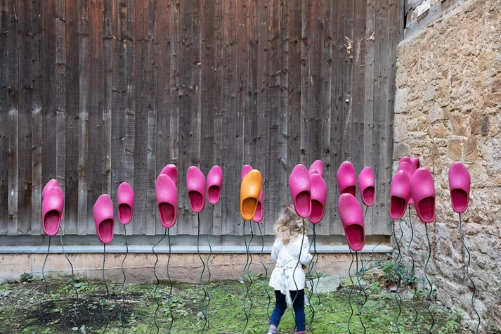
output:
M468 208L471 179L468 169L461 162L454 162L449 169L450 200L453 210L463 213Z

